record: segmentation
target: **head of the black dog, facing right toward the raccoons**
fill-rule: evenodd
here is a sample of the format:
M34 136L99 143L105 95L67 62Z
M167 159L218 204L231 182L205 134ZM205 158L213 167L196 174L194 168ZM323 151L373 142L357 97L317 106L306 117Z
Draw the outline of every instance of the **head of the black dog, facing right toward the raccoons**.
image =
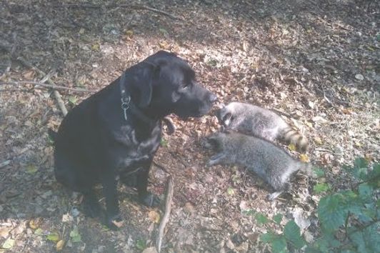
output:
M196 82L189 64L166 51L132 66L127 76L125 85L131 85L134 103L151 116L203 116L216 101L214 94Z

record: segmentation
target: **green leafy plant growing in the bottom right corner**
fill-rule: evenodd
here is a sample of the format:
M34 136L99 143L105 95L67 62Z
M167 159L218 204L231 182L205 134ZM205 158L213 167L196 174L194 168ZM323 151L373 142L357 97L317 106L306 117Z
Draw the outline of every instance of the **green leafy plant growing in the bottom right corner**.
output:
M272 252L301 249L306 252L380 252L380 164L368 167L365 159L356 159L346 167L351 176L351 189L322 197L318 204L320 234L312 243L301 237L299 227L289 221L282 234L268 232L261 241L271 244ZM324 187L319 192L324 192ZM328 189L326 189L328 190Z

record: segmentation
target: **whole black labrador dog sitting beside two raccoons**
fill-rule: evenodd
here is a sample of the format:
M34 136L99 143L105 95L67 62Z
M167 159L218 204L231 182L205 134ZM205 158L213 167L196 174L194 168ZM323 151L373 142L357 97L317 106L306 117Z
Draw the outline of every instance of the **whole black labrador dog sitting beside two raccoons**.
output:
M216 96L200 86L194 70L175 54L159 51L129 69L66 115L54 136L55 176L84 194L85 213L101 214L94 194L102 184L106 224L121 222L117 177L136 179L139 200L149 207L159 198L147 191L151 163L161 140L161 120L207 114Z

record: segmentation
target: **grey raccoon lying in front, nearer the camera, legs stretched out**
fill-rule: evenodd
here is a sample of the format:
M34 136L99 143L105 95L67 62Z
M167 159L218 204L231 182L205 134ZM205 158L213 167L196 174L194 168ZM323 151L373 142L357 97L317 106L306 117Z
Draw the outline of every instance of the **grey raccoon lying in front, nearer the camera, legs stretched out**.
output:
M259 137L238 132L217 132L207 137L209 147L218 152L209 160L214 164L240 164L255 172L275 192L269 199L275 199L290 187L290 178L299 170L312 175L309 164L293 159L284 150Z

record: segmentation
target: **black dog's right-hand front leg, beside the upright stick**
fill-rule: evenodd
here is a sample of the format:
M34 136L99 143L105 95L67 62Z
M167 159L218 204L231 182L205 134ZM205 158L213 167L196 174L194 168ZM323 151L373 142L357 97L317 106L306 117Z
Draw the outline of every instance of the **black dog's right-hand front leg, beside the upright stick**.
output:
M154 194L148 192L148 178L149 169L151 168L152 159L144 163L137 174L137 192L139 193L139 200L147 207L158 207L160 199Z

